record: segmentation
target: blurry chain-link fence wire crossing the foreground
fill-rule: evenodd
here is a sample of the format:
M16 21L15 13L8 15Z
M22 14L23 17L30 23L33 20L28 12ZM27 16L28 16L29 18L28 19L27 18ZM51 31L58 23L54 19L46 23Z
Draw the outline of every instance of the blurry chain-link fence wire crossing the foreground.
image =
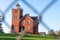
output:
M8 7L7 9L3 12L0 9L0 13L2 13L4 16L6 15L6 13L14 6L14 4L16 4L18 1L22 1L26 6L28 6L30 9L32 9L33 12L35 12L35 14L38 15L39 18L39 24L43 24L44 28L46 28L48 31L51 30L51 28L49 28L49 26L47 24L44 23L44 21L42 20L42 16L44 15L44 13L52 6L54 5L54 3L56 3L58 0L52 0L50 3L48 3L48 5L44 8L44 10L42 10L40 13L32 6L30 5L29 2L27 2L26 0L14 0ZM6 24L7 27L10 27L10 25L5 21L5 17L3 22ZM20 40L25 34L26 34L27 29L23 32L21 32L21 34L19 34L18 39ZM58 38L55 36L55 38ZM58 39L57 39L58 40ZM59 39L60 40L60 39Z

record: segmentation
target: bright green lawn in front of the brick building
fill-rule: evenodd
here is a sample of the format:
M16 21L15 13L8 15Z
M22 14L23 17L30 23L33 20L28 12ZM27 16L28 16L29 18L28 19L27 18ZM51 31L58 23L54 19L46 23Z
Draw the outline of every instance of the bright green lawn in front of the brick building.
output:
M0 34L0 40L16 40L16 34ZM40 36L37 34L25 35L22 40L55 40L54 36Z

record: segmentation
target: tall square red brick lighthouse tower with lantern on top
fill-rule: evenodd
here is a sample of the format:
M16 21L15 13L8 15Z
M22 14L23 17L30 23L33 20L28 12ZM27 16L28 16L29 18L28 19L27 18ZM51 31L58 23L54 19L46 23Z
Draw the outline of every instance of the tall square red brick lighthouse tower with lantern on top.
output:
M16 8L12 9L12 25L11 33L18 33L20 27L20 18L22 17L23 10L20 8L20 5L17 3Z

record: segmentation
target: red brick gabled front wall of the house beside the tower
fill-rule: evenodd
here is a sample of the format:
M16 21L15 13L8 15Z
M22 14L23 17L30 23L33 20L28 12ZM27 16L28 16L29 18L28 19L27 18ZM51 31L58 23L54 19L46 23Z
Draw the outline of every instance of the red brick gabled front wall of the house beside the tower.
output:
M25 30L28 28L28 27L33 27L33 20L27 15L24 19L24 23L21 22L21 25L24 26ZM30 20L30 24L28 24L28 20ZM29 31L30 33L33 33L33 28L30 29Z

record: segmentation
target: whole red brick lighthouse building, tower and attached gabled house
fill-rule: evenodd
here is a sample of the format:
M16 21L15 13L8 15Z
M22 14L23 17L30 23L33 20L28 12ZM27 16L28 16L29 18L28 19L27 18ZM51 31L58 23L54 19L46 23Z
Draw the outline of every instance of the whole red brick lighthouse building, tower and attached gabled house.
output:
M19 33L25 29L30 30L28 33L38 33L38 17L31 17L29 14L23 16L23 10L20 8L19 4L16 4L16 8L12 9L12 25L11 33ZM31 27L33 27L31 29Z

